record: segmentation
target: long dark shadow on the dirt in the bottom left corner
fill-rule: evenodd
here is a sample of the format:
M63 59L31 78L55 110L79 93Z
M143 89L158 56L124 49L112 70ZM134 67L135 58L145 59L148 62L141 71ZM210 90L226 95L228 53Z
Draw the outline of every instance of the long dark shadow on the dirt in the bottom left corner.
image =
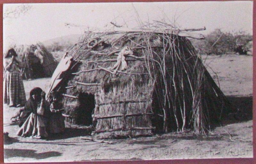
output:
M45 159L50 157L60 156L60 152L41 152L36 153L36 150L30 149L4 149L4 158L12 158L12 157L24 157L24 158L35 158Z

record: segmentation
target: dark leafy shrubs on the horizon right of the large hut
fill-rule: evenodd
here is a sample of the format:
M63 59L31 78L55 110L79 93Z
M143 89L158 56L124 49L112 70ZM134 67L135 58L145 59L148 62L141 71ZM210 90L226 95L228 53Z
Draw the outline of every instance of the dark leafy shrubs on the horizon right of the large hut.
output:
M215 29L204 40L191 40L199 54L222 55L230 52L246 54L245 45L252 40L252 35L244 31L236 33L222 32Z

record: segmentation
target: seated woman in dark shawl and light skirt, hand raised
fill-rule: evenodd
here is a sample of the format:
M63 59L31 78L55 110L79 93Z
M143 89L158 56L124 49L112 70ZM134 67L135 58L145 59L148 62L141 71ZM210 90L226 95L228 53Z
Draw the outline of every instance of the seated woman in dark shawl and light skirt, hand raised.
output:
M36 87L30 91L30 97L26 102L25 110L31 113L18 130L17 135L38 139L48 137L46 128L50 104L45 100L45 92L41 88Z

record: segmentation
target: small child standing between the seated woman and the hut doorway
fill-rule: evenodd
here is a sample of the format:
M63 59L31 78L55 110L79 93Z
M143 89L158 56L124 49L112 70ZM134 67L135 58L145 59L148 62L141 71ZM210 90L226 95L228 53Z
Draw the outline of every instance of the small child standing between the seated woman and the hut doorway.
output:
M50 121L49 121L49 132L50 133L61 133L65 130L64 117L61 114L62 103L60 101L59 93L52 93L52 103L50 105Z

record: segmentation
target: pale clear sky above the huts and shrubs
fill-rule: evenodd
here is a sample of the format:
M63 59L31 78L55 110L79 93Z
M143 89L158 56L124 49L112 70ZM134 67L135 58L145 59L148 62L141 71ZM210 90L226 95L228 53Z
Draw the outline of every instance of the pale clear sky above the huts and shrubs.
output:
M4 4L4 48L82 35L88 29L111 29L110 22L135 28L139 22L165 20L175 21L180 29L206 27L202 34L216 28L252 34L252 5L252 1Z

